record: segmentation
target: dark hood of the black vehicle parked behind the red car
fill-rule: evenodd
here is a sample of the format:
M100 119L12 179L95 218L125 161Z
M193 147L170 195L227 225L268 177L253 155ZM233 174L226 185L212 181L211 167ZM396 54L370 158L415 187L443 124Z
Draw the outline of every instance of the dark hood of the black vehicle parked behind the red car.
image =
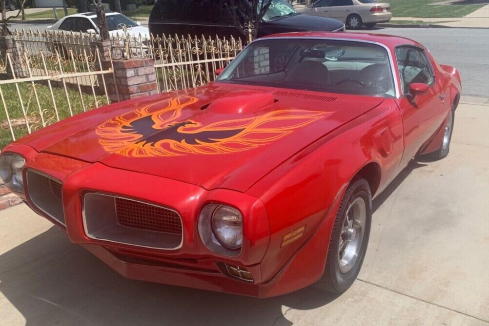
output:
M339 20L305 14L272 20L268 24L281 29L293 27L294 31L312 32L331 32L340 29L344 25Z

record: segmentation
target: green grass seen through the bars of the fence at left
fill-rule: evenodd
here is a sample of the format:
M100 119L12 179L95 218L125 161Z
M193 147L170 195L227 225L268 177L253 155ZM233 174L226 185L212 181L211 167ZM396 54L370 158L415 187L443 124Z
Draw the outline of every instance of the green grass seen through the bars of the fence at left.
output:
M31 94L33 94L31 83L22 82L19 84L19 88L22 94L22 103L24 104L24 108L28 107L27 116L29 117L33 112L36 111L39 112L35 98L34 96L31 96ZM36 90L38 92L39 102L41 107L43 109L53 109L53 104L52 104L51 95L48 86L40 84L38 88L36 88ZM25 122L23 119L21 104L20 104L19 96L17 95L17 90L14 84L5 84L5 85L1 85L1 91L3 92L3 97L5 99L5 104L7 106L7 111L10 120L12 121L17 119L17 121L19 122L18 125L13 127L15 137L19 139L20 137L25 136L27 134L27 128L25 126ZM63 88L53 86L53 94L58 108L60 120L66 119L67 117L70 116L70 113L68 110L65 90ZM85 103L85 107L88 107L89 103L93 102L93 95L91 94L82 94L82 95L83 95L83 101ZM78 91L68 89L68 97L71 103L71 109L73 111L73 114L75 115L83 112L83 106ZM107 104L107 100L105 96L97 96L97 100L101 101L102 105ZM12 135L10 134L10 129L8 128L8 124L6 123L6 119L7 118L5 115L5 110L0 100L0 149L3 148L8 143L12 142Z

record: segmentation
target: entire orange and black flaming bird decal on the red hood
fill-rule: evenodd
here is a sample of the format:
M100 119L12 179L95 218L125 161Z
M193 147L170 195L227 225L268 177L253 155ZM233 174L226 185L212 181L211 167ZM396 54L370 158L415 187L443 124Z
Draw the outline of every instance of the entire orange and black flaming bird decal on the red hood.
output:
M112 118L96 129L99 144L126 157L234 153L281 139L331 113L289 109L209 124L180 122L182 109L197 101L177 96Z

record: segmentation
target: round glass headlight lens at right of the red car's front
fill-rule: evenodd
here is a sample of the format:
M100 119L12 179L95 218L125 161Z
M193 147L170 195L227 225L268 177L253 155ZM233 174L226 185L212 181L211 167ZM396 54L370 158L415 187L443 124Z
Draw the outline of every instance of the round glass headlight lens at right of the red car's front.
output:
M243 216L229 206L219 205L212 213L212 231L221 245L238 249L243 244Z

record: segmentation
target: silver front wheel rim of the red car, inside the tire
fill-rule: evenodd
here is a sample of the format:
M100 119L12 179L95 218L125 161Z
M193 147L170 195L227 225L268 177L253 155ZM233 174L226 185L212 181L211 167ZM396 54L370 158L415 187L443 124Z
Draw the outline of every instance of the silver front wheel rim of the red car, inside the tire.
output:
M356 198L348 206L345 215L338 245L338 265L343 274L352 269L360 254L367 218L367 208L363 198Z

